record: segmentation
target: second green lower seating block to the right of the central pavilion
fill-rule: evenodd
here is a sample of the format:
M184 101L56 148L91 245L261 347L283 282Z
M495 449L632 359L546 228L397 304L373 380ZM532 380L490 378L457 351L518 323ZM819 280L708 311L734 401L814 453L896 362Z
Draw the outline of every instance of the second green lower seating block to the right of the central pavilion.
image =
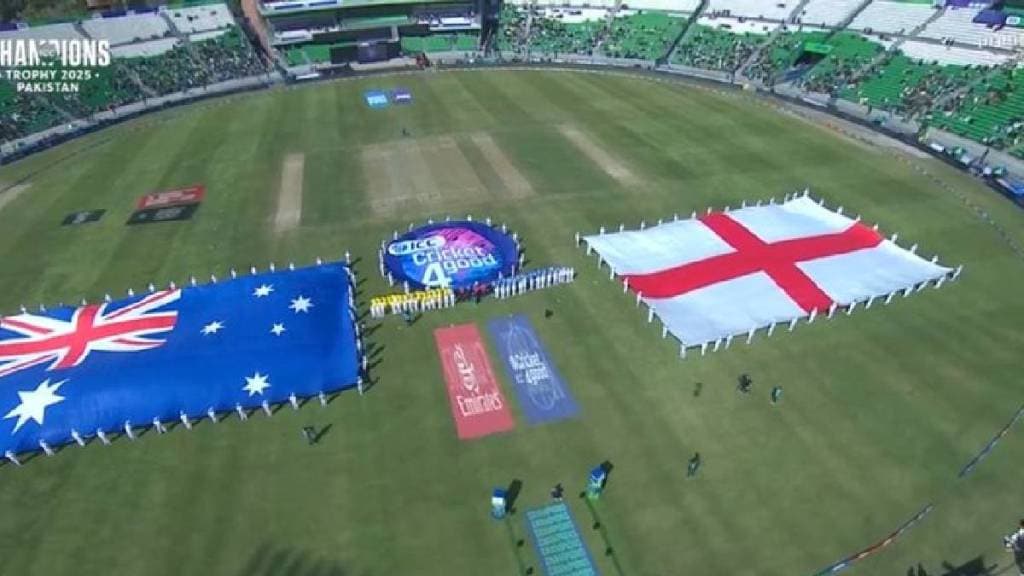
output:
M665 12L644 11L616 17L601 44L601 52L615 58L656 59L682 33L685 20Z

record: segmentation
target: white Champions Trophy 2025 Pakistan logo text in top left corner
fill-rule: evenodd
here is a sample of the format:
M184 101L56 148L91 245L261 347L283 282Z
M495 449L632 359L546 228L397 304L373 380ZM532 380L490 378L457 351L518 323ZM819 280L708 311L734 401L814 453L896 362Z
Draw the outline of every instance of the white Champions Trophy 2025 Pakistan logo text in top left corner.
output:
M0 39L0 79L23 93L77 93L111 65L109 40Z

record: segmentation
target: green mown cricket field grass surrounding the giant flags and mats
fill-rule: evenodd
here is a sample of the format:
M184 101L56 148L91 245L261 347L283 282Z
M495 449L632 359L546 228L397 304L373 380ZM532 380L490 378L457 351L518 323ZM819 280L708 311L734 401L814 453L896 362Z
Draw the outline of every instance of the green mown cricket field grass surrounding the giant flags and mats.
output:
M415 104L371 111L362 102L362 90L395 86L410 88ZM584 132L634 178L609 175L560 126ZM377 202L378 176L360 155L369 145L396 150L389 142L402 139L402 127L424 154L441 152L430 157L437 162L397 169L483 192ZM488 160L475 143L481 134L507 165ZM433 146L450 139L455 147ZM273 214L290 154L305 155L303 215L279 235ZM527 194L502 192L508 166ZM361 257L366 302L386 290L376 272L384 237L467 212L507 221L531 265L569 264L580 275L570 286L431 313L412 327L370 322L382 362L364 397L0 468L0 574L511 576L516 552L488 517L488 499L519 479L520 510L563 483L601 573L615 575L574 498L605 459L614 470L599 511L628 576L810 575L928 502L937 507L918 528L848 573L902 576L920 562L941 575L943 563L1010 562L1000 536L1024 516L1021 430L973 476L956 474L1024 401L1024 262L964 198L1022 244L1024 214L935 161L864 147L744 94L628 76L467 72L173 110L0 168L0 182L25 177L31 188L0 210L0 311L8 313L346 249ZM191 221L123 224L141 194L196 182L208 193ZM963 277L680 361L673 340L572 243L577 231L805 187L926 255L965 264ZM58 225L92 208L109 210L101 222ZM545 320L545 308L554 317ZM482 327L512 312L531 318L582 417L527 427L499 372L518 426L460 442L432 330ZM755 381L750 396L735 392L742 372ZM774 384L785 389L775 407ZM305 424L331 428L307 447ZM687 480L694 451L703 465ZM525 538L522 520L514 516L513 528ZM540 574L528 544L522 554Z

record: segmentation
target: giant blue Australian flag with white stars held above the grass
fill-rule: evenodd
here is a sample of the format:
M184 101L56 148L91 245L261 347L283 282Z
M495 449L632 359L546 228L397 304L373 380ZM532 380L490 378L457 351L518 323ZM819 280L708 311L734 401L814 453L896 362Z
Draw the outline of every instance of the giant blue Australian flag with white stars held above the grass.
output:
M344 264L0 319L0 454L316 396L359 376Z

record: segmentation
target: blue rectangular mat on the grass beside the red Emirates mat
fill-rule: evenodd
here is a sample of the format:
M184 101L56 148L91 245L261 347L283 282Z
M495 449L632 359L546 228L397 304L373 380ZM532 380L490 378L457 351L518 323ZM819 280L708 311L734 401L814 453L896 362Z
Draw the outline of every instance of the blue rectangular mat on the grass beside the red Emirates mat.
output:
M530 425L572 418L580 412L525 316L493 319L487 329Z

